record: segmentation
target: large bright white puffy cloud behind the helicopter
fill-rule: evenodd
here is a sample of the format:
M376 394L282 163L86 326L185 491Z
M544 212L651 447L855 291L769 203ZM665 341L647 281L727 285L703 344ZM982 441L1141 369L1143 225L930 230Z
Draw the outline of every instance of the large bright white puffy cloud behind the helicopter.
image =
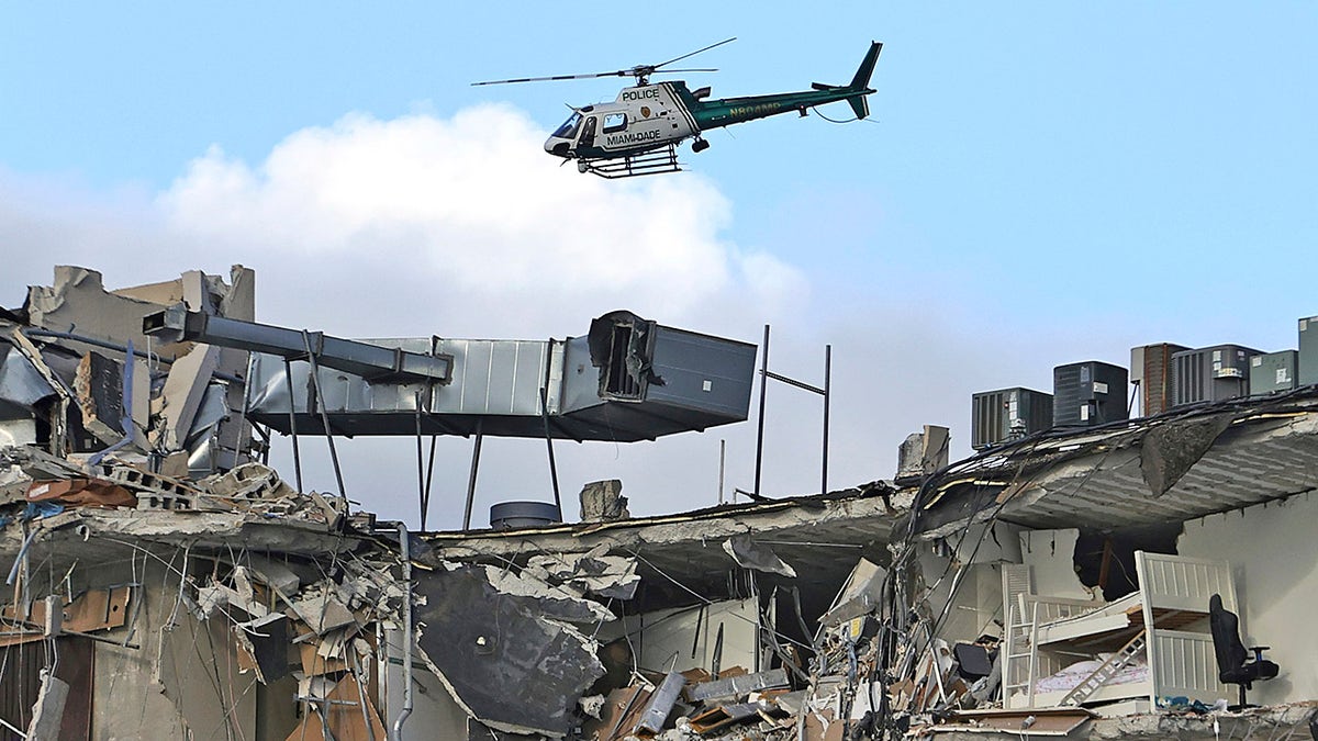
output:
M604 181L559 167L542 141L502 105L447 120L349 115L294 133L258 166L212 148L159 206L179 233L250 254L258 270L301 260L323 273L347 261L337 295L430 283L438 324L496 298L509 316L569 327L618 307L672 320L720 294L772 302L804 282L721 239L730 204L699 175Z

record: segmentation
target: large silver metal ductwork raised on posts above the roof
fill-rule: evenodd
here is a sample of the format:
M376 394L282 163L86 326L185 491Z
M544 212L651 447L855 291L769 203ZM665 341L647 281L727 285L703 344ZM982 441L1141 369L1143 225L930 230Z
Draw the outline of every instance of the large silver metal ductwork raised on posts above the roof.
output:
M646 440L745 421L755 372L754 344L627 311L563 340L340 340L192 316L148 316L183 328L148 334L252 351L248 418L283 434L324 434L328 418L336 435ZM306 338L324 339L311 341L315 384L308 363L286 363L306 357Z

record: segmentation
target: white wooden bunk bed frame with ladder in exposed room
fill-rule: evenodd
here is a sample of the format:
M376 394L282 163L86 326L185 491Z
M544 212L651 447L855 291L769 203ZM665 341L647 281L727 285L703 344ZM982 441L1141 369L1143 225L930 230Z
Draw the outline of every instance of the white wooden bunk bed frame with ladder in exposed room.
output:
M1209 630L1209 597L1236 607L1231 564L1165 554L1135 552L1139 589L1114 603L1035 595L1027 566L1003 570L1003 707L1045 708L1114 700L1186 697L1213 704L1230 697L1218 680ZM1024 570L1024 571L1023 571ZM1143 653L1148 678L1108 684L1102 668L1077 692L1037 692L1036 683L1098 653Z

